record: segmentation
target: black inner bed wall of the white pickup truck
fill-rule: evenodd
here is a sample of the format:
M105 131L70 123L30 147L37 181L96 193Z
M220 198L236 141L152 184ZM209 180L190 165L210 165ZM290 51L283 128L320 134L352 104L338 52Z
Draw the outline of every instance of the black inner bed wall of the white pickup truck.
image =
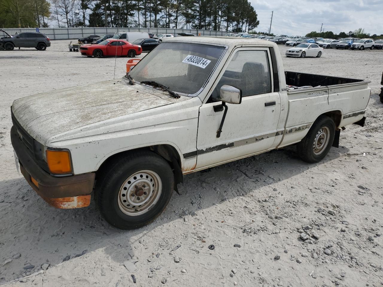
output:
M349 84L356 82L363 82L364 80L352 79L352 78L341 78L332 77L326 75L316 75L309 73L291 72L285 71L286 85L291 86L332 86Z

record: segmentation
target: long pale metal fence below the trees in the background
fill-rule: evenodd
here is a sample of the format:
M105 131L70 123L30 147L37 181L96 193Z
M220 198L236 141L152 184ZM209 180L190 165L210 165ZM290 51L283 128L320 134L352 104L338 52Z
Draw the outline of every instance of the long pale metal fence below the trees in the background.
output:
M17 32L36 32L36 28L7 28L4 29L8 34L14 35ZM196 29L167 29L167 28L108 28L108 27L87 27L87 28L39 28L51 40L79 39L88 35L102 36L104 34L114 34L116 32L151 32L158 34L191 33L196 36L222 36L225 31L196 30ZM0 32L0 34L3 32Z

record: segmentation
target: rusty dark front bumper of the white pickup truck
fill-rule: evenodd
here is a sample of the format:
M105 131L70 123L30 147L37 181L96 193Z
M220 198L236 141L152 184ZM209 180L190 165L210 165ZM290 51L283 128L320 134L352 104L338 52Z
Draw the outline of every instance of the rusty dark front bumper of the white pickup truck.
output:
M26 152L26 147L15 126L11 128L11 142L19 158L21 173L34 191L46 202L62 209L86 207L90 204L95 173L65 177L52 176Z

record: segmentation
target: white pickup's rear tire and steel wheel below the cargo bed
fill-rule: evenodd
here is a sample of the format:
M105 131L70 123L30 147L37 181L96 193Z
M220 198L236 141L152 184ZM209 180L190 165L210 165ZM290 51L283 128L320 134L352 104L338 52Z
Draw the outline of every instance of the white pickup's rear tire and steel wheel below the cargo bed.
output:
M319 116L307 135L296 145L298 155L308 163L316 163L326 157L334 137L334 121L328 116Z

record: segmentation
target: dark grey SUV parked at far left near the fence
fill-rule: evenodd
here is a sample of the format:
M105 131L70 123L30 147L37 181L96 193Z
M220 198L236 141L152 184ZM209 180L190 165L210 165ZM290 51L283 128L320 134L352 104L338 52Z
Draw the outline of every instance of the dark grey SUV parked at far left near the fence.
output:
M12 51L15 47L18 48L35 48L39 51L45 51L47 47L51 46L51 41L43 33L36 32L21 32L11 36L4 30L0 29L7 37L0 39L0 46L5 50Z

